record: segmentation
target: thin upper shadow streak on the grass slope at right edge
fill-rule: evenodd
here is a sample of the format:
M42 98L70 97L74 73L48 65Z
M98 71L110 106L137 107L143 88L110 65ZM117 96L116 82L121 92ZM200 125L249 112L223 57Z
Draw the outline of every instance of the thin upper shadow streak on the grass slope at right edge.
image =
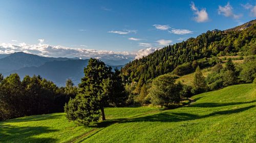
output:
M230 105L240 105L240 104L248 104L248 103L254 103L256 100L250 101L250 102L233 102L233 103L195 103L191 104L187 107L221 107L221 106L230 106Z

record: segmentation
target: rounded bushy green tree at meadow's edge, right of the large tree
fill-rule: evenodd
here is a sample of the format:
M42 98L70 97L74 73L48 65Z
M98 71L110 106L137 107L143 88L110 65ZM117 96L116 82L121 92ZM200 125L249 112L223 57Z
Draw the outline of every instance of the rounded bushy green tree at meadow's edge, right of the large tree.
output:
M149 89L151 103L168 107L181 100L181 83L175 83L172 75L161 75L153 80L152 87Z

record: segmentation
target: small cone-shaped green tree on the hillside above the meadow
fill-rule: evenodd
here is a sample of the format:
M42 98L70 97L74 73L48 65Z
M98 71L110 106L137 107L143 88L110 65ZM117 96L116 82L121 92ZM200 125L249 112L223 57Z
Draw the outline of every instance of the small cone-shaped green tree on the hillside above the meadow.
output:
M207 86L205 82L205 78L202 74L200 67L198 66L195 72L194 80L193 80L193 93L202 93L206 91Z

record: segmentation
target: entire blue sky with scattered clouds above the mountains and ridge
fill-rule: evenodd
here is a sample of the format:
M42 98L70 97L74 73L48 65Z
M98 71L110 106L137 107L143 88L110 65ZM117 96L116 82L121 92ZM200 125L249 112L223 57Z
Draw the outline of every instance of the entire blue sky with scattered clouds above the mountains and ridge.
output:
M102 55L90 52L137 55L151 48L142 51L148 54L255 17L256 1L251 0L0 1L0 54L19 50L53 57L97 57ZM45 46L51 50L43 51ZM65 55L58 48L90 50L83 53L87 56L72 55L72 51Z

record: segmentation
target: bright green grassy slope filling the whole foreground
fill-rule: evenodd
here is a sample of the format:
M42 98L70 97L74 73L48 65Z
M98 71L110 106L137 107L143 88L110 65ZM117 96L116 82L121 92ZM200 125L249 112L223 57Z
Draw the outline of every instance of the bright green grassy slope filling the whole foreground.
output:
M195 103L173 109L107 108L108 121L83 128L63 113L0 122L0 142L254 142L256 88L229 86L194 96ZM78 137L80 136L80 137Z

